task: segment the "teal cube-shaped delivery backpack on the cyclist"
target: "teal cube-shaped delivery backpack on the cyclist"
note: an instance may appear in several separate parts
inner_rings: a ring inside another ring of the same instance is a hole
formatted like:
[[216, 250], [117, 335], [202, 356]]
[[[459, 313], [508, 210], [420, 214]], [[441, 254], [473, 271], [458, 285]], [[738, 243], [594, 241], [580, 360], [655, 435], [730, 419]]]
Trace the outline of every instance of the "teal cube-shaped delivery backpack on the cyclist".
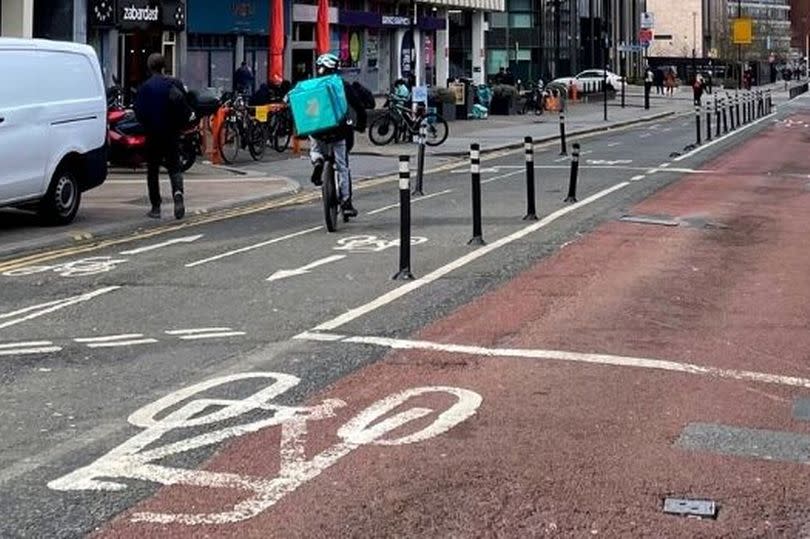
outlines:
[[290, 91], [288, 99], [299, 135], [338, 127], [349, 112], [343, 79], [338, 75], [303, 80]]

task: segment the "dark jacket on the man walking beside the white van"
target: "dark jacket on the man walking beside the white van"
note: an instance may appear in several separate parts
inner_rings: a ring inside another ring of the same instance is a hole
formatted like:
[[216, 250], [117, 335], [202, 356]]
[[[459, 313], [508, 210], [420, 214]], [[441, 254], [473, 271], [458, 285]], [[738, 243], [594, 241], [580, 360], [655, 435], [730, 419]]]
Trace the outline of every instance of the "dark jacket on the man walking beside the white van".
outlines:
[[135, 116], [147, 133], [178, 133], [188, 121], [190, 108], [183, 84], [172, 77], [152, 75], [138, 88]]

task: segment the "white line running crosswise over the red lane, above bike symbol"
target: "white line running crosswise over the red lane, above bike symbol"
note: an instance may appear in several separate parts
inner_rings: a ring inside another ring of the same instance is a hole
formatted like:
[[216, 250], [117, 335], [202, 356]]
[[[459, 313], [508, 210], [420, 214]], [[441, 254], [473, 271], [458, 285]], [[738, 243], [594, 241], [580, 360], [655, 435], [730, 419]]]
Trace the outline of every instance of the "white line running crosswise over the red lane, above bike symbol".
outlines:
[[431, 350], [434, 352], [449, 352], [484, 357], [504, 357], [563, 361], [570, 363], [588, 363], [594, 365], [610, 365], [614, 367], [635, 367], [684, 374], [695, 374], [713, 378], [740, 380], [745, 382], [761, 382], [791, 387], [810, 388], [810, 378], [783, 376], [756, 371], [741, 371], [736, 369], [721, 369], [694, 363], [681, 363], [630, 356], [614, 356], [609, 354], [591, 354], [582, 352], [565, 352], [560, 350], [532, 350], [522, 348], [484, 348], [460, 344], [444, 344], [429, 341], [412, 341], [406, 339], [391, 339], [386, 337], [347, 337], [345, 343], [369, 344], [395, 350]]

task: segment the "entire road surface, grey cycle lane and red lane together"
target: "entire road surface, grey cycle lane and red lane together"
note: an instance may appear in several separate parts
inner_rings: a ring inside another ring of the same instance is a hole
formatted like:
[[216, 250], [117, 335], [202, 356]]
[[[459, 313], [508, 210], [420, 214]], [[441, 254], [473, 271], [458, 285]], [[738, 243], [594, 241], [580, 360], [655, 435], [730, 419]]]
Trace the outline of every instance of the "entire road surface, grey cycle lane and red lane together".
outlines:
[[336, 234], [313, 191], [0, 262], [0, 536], [807, 533], [804, 468], [746, 444], [810, 458], [808, 120], [583, 137], [576, 203], [539, 146], [537, 221], [522, 150], [490, 156], [484, 246], [469, 167], [430, 174], [414, 281], [395, 180]]

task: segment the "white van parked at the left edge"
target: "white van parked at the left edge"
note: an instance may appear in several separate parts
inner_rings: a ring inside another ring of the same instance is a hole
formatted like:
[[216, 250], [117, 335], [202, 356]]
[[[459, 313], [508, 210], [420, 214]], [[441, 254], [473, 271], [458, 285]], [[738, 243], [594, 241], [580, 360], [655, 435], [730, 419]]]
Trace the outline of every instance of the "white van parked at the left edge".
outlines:
[[87, 45], [0, 38], [0, 207], [67, 224], [107, 177], [107, 99]]

